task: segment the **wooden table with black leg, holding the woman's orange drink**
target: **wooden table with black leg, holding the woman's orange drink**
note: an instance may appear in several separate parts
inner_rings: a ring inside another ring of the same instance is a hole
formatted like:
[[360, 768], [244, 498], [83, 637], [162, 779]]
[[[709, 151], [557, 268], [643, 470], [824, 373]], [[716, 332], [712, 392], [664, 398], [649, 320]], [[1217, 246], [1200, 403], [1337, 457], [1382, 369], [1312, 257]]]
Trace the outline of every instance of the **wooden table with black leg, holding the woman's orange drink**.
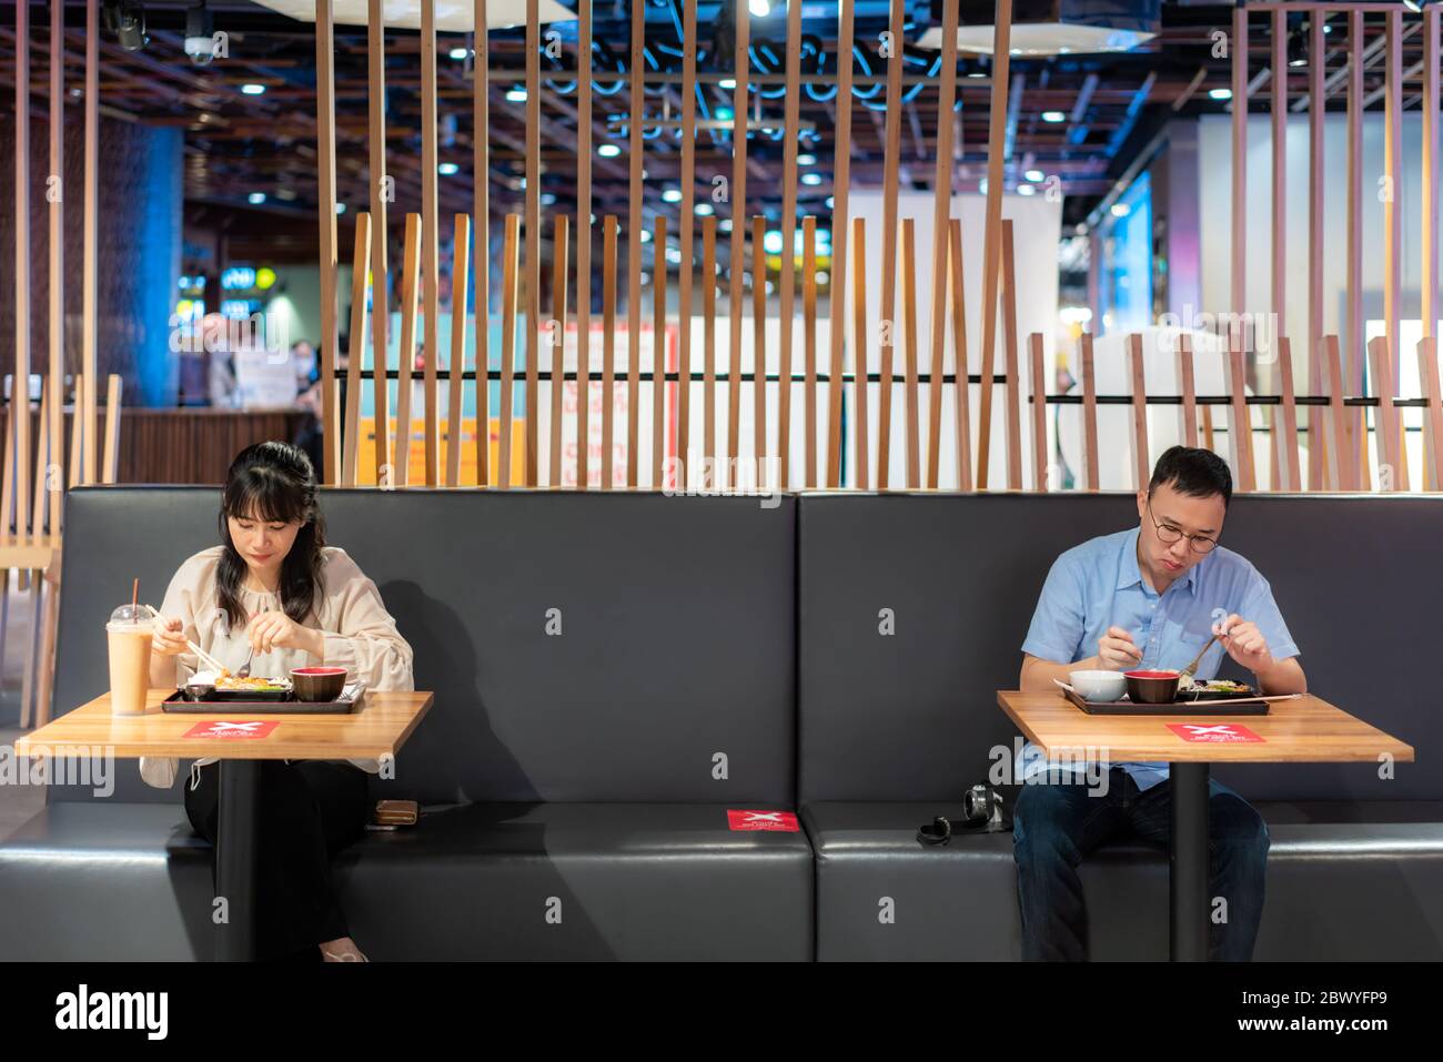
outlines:
[[[436, 700], [431, 693], [369, 691], [361, 708], [345, 716], [215, 711], [163, 713], [173, 690], [152, 690], [144, 716], [111, 716], [110, 694], [68, 711], [14, 743], [17, 756], [92, 756], [117, 759], [176, 756], [221, 760], [215, 844], [215, 890], [227, 898], [228, 919], [218, 926], [216, 957], [251, 958], [255, 944], [255, 799], [260, 762], [267, 759], [381, 759], [395, 756]], [[232, 736], [188, 732], [229, 723]], [[240, 736], [237, 723], [260, 723], [260, 737]], [[264, 724], [274, 723], [267, 730]]]

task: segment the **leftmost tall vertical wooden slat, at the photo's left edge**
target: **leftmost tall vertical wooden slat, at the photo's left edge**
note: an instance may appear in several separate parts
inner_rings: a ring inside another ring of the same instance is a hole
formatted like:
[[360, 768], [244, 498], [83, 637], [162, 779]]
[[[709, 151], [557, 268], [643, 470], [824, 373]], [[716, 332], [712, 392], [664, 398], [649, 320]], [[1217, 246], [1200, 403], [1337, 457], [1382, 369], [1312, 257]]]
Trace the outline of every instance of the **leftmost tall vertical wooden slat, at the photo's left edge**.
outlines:
[[[14, 532], [30, 534], [30, 4], [14, 6]], [[6, 511], [9, 518], [9, 509]], [[4, 587], [0, 587], [3, 590]]]

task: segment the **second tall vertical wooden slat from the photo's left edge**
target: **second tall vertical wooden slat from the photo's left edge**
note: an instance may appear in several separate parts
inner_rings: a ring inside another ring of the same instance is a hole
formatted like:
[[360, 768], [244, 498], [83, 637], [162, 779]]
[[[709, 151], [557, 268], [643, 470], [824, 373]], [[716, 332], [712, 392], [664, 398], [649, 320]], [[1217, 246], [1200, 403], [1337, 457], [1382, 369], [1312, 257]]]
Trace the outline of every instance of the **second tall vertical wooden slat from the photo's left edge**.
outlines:
[[[51, 4], [51, 175], [61, 177], [62, 195], [51, 198], [51, 404], [45, 418], [45, 468], [40, 473], [49, 485], [49, 531], [51, 537], [61, 534], [61, 499], [65, 491], [61, 475], [65, 456], [65, 4]], [[39, 528], [39, 522], [36, 524]], [[52, 584], [46, 609], [56, 605], [56, 590]], [[49, 612], [48, 612], [49, 618]], [[49, 633], [49, 623], [46, 623]], [[40, 659], [48, 661], [43, 675], [53, 671], [53, 649], [42, 648]], [[46, 701], [48, 688], [42, 683], [40, 701]], [[43, 713], [43, 708], [42, 708]]]

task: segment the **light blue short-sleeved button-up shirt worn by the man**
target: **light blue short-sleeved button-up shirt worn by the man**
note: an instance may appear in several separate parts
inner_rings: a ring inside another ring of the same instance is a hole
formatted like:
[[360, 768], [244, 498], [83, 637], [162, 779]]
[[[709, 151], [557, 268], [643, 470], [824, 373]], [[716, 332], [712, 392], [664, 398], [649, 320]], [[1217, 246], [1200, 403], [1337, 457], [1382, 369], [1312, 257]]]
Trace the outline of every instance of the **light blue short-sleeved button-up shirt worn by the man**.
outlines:
[[[1212, 613], [1222, 609], [1257, 623], [1274, 659], [1297, 655], [1273, 590], [1247, 558], [1219, 545], [1159, 594], [1137, 567], [1137, 535], [1139, 528], [1101, 535], [1053, 561], [1023, 652], [1076, 664], [1097, 654], [1098, 639], [1110, 626], [1120, 626], [1143, 651], [1139, 668], [1180, 671], [1212, 638]], [[1196, 678], [1216, 675], [1224, 655], [1222, 645], [1209, 648], [1198, 664]], [[1133, 776], [1139, 789], [1167, 778], [1166, 763], [1117, 766]], [[1027, 746], [1019, 758], [1017, 776], [1046, 768], [1040, 752]]]

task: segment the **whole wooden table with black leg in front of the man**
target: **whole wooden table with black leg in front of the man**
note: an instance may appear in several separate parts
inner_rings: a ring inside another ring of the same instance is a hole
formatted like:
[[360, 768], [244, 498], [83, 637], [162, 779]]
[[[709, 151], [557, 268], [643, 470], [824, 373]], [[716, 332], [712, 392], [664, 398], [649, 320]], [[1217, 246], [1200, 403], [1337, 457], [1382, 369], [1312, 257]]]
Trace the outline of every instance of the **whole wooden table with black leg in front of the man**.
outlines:
[[[1320, 697], [1274, 701], [1266, 716], [1089, 716], [1061, 691], [1000, 690], [997, 703], [1017, 729], [1052, 759], [1111, 763], [1166, 760], [1172, 775], [1172, 958], [1208, 957], [1208, 765], [1413, 762], [1413, 746]], [[1201, 727], [1201, 730], [1169, 729]], [[1255, 737], [1257, 740], [1240, 737]]]

